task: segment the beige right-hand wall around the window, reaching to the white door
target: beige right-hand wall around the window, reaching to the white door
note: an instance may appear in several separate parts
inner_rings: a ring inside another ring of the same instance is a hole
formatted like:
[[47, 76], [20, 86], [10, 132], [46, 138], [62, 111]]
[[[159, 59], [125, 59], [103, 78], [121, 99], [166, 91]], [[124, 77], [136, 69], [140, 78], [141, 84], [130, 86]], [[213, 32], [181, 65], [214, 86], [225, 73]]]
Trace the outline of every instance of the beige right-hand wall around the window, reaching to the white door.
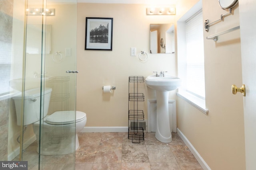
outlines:
[[[218, 20], [226, 12], [219, 7], [218, 1], [203, 0], [204, 20]], [[206, 39], [206, 36], [237, 25], [238, 6], [224, 21], [211, 25], [208, 33], [204, 31], [208, 115], [181, 98], [177, 102], [178, 128], [212, 170], [245, 169], [243, 97], [231, 92], [232, 84], [242, 85], [240, 32], [220, 35], [218, 41]]]

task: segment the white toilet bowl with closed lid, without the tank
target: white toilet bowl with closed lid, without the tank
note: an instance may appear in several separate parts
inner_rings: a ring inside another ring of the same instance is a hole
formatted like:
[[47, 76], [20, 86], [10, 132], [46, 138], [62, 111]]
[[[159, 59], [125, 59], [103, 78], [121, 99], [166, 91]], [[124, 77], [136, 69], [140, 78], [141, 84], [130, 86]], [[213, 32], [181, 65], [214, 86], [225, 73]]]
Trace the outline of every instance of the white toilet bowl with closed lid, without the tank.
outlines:
[[[44, 117], [43, 142], [40, 153], [43, 155], [70, 154], [79, 147], [77, 133], [86, 125], [86, 113], [76, 111], [76, 124], [74, 124], [74, 111], [56, 111]], [[33, 123], [33, 130], [39, 146], [40, 121]], [[76, 133], [74, 133], [76, 131]], [[75, 140], [75, 141], [74, 141]], [[37, 152], [39, 152], [39, 147]]]

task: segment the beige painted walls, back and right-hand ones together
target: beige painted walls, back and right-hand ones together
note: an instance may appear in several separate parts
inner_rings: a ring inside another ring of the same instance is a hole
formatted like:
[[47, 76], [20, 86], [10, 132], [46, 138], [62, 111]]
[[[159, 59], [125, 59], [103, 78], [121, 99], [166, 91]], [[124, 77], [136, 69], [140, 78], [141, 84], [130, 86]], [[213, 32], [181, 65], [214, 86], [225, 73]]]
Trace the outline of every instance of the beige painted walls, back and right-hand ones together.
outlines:
[[[149, 54], [149, 24], [176, 23], [198, 0], [180, 0], [176, 16], [146, 16], [142, 4], [78, 3], [77, 110], [87, 113], [86, 126], [127, 126], [128, 76], [148, 76], [152, 71], [167, 70], [176, 75], [176, 54]], [[203, 0], [204, 20], [218, 20], [227, 11], [217, 1]], [[114, 18], [113, 51], [85, 51], [85, 18]], [[210, 26], [204, 37], [239, 25], [238, 7], [225, 21]], [[222, 35], [217, 42], [204, 39], [206, 107], [205, 115], [174, 93], [177, 98], [178, 128], [212, 170], [245, 169], [243, 97], [231, 93], [231, 85], [242, 84], [239, 31]], [[137, 57], [130, 57], [136, 47]], [[138, 53], [146, 51], [146, 63]], [[102, 86], [115, 85], [112, 94], [103, 94]], [[147, 99], [155, 98], [146, 85], [140, 89]], [[146, 100], [144, 112], [146, 111]]]

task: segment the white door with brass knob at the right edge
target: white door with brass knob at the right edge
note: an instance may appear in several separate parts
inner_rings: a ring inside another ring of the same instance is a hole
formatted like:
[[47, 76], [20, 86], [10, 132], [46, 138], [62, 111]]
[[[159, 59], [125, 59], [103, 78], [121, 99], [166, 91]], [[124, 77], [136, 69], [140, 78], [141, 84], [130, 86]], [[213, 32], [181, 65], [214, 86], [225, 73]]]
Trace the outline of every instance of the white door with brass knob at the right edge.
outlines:
[[[256, 1], [240, 0], [246, 170], [256, 170]], [[239, 85], [240, 86], [240, 85]]]

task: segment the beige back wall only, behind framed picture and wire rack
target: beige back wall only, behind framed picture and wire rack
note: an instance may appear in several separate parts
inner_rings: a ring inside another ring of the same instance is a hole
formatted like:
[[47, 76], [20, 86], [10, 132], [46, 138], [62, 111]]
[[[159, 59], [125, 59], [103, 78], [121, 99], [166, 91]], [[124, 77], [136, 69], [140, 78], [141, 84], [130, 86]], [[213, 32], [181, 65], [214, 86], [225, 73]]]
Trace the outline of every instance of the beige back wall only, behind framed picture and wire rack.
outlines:
[[[176, 76], [175, 54], [150, 54], [150, 23], [174, 23], [175, 16], [147, 16], [147, 5], [142, 4], [90, 4], [78, 3], [77, 36], [77, 110], [87, 115], [86, 126], [128, 126], [128, 77], [146, 76], [153, 71], [165, 70]], [[86, 17], [113, 18], [113, 50], [84, 50]], [[136, 57], [130, 48], [136, 47]], [[148, 54], [148, 61], [138, 60], [140, 51]], [[103, 94], [102, 86], [116, 86], [112, 94]], [[155, 98], [145, 84], [140, 85], [145, 94], [142, 102]], [[175, 93], [170, 98], [176, 98]], [[145, 118], [147, 115], [145, 114]]]

